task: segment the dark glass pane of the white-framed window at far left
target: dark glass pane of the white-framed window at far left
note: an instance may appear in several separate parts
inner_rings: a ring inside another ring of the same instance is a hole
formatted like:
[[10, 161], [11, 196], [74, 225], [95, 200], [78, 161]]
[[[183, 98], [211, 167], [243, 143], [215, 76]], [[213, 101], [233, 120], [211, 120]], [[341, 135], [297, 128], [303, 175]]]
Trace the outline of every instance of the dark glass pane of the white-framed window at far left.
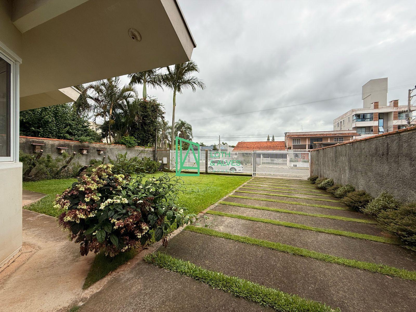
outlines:
[[0, 157], [10, 157], [10, 70], [0, 57]]

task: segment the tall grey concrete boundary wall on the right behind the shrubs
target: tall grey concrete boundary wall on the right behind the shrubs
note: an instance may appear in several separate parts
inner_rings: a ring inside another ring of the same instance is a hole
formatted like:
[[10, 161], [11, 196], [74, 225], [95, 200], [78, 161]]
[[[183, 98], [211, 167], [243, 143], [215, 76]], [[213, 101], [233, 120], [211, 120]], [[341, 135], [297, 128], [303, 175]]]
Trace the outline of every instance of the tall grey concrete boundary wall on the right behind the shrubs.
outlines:
[[312, 150], [311, 175], [416, 201], [416, 126]]

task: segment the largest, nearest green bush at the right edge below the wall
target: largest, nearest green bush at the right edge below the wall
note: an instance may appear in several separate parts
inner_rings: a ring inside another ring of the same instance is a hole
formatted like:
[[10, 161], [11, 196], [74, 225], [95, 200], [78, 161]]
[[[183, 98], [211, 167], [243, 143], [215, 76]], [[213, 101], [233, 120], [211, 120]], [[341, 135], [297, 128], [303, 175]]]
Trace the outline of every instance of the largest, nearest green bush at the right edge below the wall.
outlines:
[[377, 221], [383, 228], [396, 235], [403, 246], [416, 251], [416, 203], [398, 209], [383, 210]]

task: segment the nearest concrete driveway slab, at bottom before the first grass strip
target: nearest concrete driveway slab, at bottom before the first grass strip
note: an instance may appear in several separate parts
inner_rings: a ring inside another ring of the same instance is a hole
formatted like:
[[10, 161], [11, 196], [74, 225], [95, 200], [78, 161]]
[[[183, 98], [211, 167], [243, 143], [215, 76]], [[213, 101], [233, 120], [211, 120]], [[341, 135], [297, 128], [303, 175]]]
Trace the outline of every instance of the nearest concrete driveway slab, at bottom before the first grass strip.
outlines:
[[[179, 234], [180, 235], [180, 234]], [[163, 250], [164, 248], [162, 248]], [[272, 311], [144, 261], [116, 276], [81, 312]]]

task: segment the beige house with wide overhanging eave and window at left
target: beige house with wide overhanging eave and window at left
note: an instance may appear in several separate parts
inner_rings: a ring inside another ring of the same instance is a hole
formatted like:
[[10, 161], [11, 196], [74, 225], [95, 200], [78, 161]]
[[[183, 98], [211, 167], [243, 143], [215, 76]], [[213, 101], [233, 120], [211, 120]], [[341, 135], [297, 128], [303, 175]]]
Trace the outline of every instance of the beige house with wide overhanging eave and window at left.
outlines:
[[186, 62], [196, 45], [176, 0], [0, 0], [0, 30], [1, 267], [22, 246], [19, 111], [73, 102], [78, 84]]

